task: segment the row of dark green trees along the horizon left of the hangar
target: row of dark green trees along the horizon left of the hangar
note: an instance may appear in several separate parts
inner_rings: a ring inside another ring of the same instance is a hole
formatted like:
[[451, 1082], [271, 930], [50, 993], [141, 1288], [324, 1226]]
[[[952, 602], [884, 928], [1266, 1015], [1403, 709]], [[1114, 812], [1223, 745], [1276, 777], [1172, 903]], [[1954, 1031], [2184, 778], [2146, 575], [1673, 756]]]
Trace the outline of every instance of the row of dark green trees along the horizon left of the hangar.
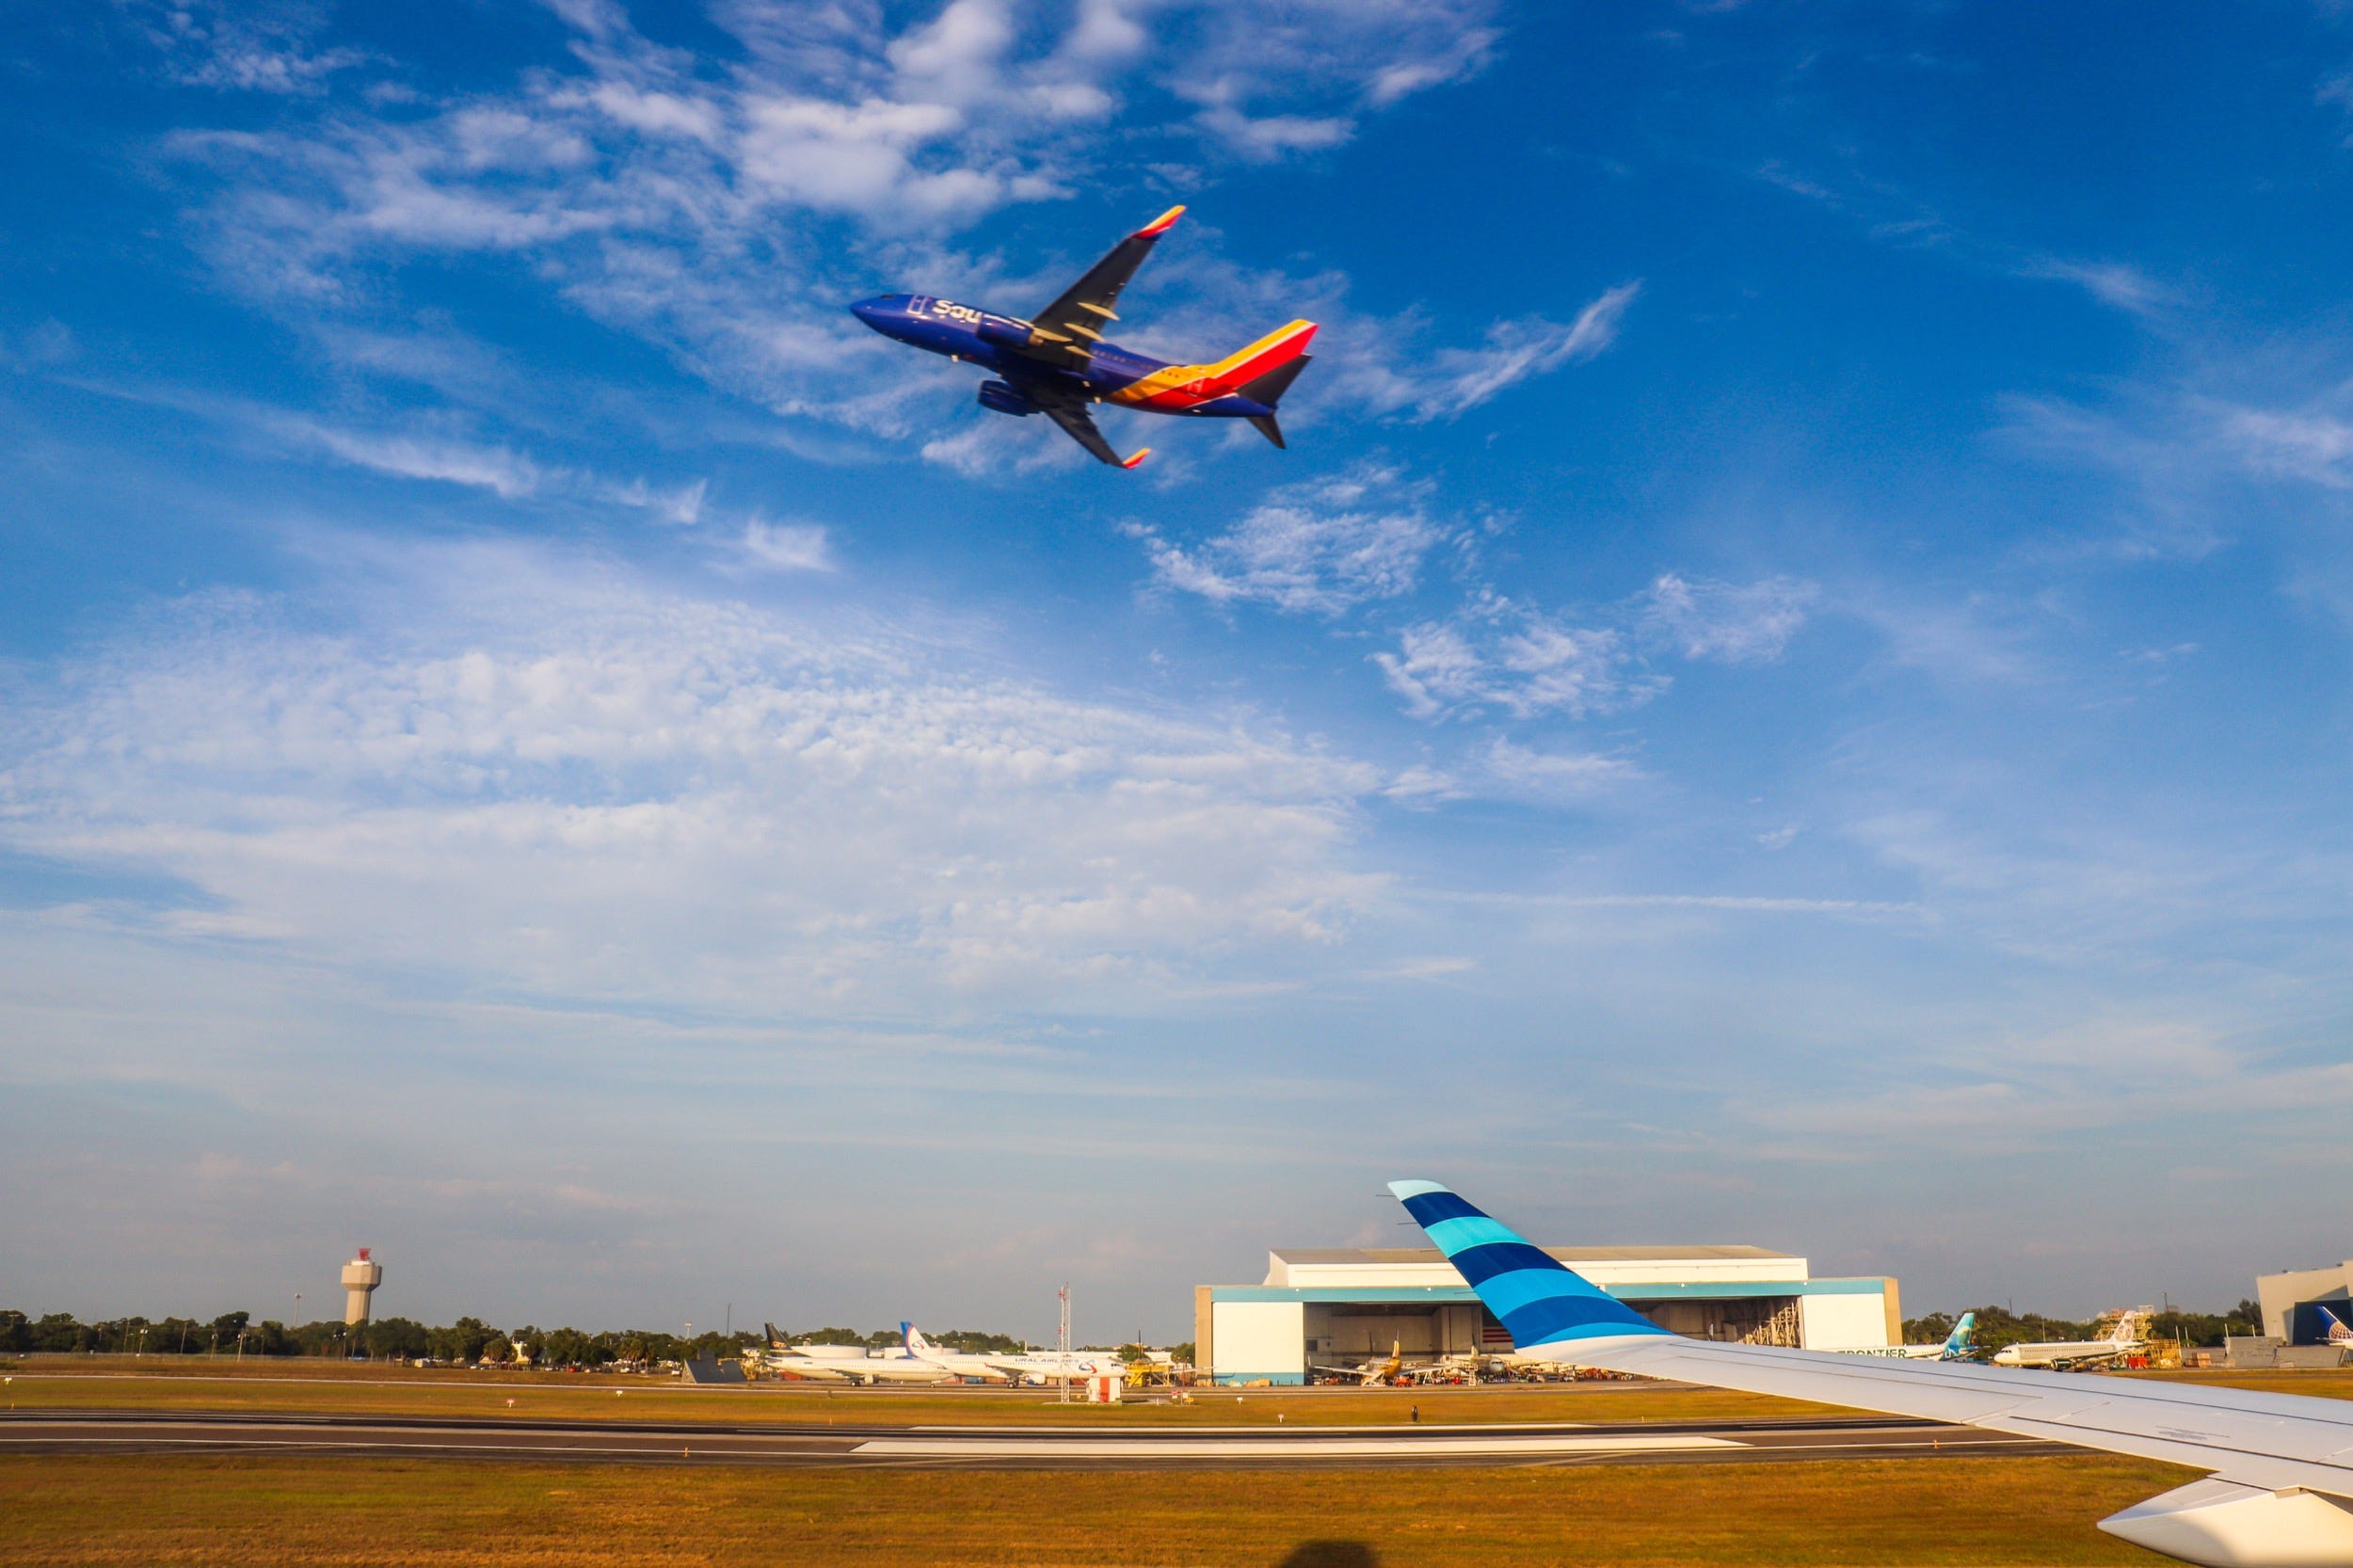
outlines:
[[[958, 1351], [1019, 1351], [1021, 1340], [972, 1328], [925, 1335]], [[431, 1328], [412, 1318], [374, 1318], [344, 1323], [254, 1321], [249, 1311], [226, 1311], [216, 1318], [101, 1318], [82, 1323], [73, 1314], [28, 1316], [0, 1311], [0, 1354], [89, 1354], [89, 1356], [367, 1356], [376, 1361], [447, 1361], [492, 1366], [527, 1361], [529, 1366], [614, 1366], [638, 1361], [704, 1361], [739, 1356], [760, 1344], [762, 1335], [661, 1333], [659, 1328], [492, 1328], [482, 1318], [459, 1318]], [[856, 1333], [852, 1328], [816, 1328], [795, 1337], [805, 1344], [864, 1344], [882, 1349], [899, 1344], [896, 1328]], [[518, 1356], [520, 1351], [520, 1356]]]

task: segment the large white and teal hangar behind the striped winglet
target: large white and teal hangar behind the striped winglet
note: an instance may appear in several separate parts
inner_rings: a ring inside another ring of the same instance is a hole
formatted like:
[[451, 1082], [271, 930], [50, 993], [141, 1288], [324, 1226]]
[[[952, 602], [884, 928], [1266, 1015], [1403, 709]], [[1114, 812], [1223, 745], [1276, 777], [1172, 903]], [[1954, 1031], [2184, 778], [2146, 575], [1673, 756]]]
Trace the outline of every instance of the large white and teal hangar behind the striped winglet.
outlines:
[[[1661, 1328], [1699, 1340], [1882, 1349], [1904, 1342], [1892, 1278], [1812, 1278], [1746, 1245], [1544, 1248]], [[1259, 1285], [1195, 1285], [1193, 1363], [1221, 1384], [1297, 1384], [1311, 1368], [1508, 1351], [1511, 1335], [1438, 1248], [1282, 1248]]]

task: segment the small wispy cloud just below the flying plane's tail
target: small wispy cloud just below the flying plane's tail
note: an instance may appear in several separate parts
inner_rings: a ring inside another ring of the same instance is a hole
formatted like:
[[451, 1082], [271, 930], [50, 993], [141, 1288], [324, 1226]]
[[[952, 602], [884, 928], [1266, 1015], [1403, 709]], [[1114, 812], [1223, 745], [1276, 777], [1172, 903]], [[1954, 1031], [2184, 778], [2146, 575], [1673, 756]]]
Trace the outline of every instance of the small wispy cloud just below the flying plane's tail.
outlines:
[[1186, 549], [1134, 530], [1153, 574], [1214, 603], [1249, 600], [1337, 614], [1412, 591], [1421, 560], [1445, 537], [1428, 518], [1428, 480], [1388, 464], [1282, 485], [1226, 532]]

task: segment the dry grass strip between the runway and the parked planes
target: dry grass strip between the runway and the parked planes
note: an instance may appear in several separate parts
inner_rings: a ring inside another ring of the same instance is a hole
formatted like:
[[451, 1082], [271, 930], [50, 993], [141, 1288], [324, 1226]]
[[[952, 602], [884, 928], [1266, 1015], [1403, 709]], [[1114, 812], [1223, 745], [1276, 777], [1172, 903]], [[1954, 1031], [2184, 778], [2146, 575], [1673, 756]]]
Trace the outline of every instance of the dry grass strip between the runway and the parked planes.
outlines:
[[[315, 1368], [315, 1370], [313, 1370]], [[819, 1389], [791, 1384], [687, 1389], [654, 1377], [565, 1373], [468, 1373], [456, 1368], [355, 1368], [294, 1363], [38, 1361], [14, 1373], [19, 1410], [268, 1410], [311, 1415], [435, 1415], [633, 1422], [840, 1422], [906, 1427], [1122, 1424], [1292, 1427], [1402, 1424], [1414, 1406], [1440, 1422], [1682, 1422], [1835, 1415], [1729, 1389], [1678, 1384], [1520, 1384], [1492, 1389], [1282, 1389], [1212, 1391], [1191, 1406], [1056, 1406], [1052, 1391]], [[506, 1401], [515, 1408], [508, 1410]]]

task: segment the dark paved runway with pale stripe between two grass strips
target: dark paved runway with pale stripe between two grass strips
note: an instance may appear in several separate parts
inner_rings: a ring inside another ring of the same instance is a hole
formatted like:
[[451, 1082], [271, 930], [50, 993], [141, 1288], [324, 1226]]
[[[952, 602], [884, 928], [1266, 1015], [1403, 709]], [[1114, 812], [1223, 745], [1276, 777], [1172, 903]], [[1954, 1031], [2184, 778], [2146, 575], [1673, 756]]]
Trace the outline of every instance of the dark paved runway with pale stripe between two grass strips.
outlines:
[[1351, 1469], [1428, 1464], [1788, 1464], [2071, 1453], [1885, 1417], [1513, 1427], [816, 1427], [198, 1415], [0, 1415], [0, 1453], [346, 1455], [739, 1467]]

